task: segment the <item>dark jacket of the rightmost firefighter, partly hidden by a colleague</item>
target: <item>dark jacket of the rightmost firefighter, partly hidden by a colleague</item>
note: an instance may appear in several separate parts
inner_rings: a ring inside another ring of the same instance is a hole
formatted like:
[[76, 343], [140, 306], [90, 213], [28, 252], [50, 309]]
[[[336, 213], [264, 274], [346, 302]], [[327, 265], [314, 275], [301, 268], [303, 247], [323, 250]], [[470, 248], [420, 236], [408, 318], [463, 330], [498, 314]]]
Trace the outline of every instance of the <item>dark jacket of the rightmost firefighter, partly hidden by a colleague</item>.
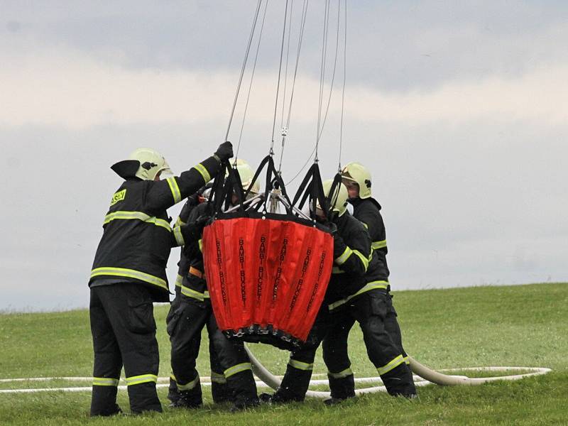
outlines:
[[353, 204], [353, 215], [356, 219], [363, 222], [369, 235], [371, 235], [371, 249], [373, 258], [369, 263], [368, 281], [385, 280], [388, 281], [388, 265], [386, 263], [386, 230], [381, 216], [381, 204], [374, 198], [356, 198], [349, 200]]

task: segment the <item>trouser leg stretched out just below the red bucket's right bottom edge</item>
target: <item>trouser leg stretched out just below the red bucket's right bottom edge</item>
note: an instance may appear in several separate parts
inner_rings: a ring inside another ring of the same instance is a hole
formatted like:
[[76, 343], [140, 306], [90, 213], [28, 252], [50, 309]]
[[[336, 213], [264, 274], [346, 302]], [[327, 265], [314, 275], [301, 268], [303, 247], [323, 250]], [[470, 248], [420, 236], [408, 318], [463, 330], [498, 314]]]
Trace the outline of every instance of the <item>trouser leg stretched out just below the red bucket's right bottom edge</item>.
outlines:
[[277, 402], [302, 401], [307, 388], [310, 386], [314, 359], [317, 348], [327, 334], [329, 328], [329, 313], [327, 306], [318, 312], [314, 325], [310, 330], [307, 341], [290, 354], [286, 373], [273, 398]]

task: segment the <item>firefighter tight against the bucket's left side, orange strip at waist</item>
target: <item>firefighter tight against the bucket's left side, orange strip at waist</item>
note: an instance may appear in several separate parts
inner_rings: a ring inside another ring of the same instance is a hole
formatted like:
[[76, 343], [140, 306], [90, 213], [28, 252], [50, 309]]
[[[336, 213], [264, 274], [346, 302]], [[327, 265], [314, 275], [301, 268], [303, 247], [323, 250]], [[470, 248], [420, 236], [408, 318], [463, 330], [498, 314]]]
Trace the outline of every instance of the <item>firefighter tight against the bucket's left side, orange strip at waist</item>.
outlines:
[[[236, 168], [243, 186], [248, 186], [253, 177], [252, 169], [246, 163], [241, 163]], [[251, 194], [258, 193], [258, 189], [258, 184], [255, 183]], [[182, 274], [180, 301], [168, 323], [172, 345], [171, 366], [178, 388], [178, 398], [173, 401], [172, 406], [196, 408], [202, 405], [200, 376], [195, 364], [200, 349], [201, 332], [206, 326], [209, 334], [209, 353], [217, 354], [216, 361], [221, 367], [220, 371], [214, 371], [212, 366], [212, 381], [226, 383], [234, 403], [232, 410], [243, 410], [258, 405], [256, 383], [244, 344], [229, 341], [217, 327], [213, 315], [204, 276], [201, 246], [201, 232], [210, 216], [209, 207], [206, 203], [195, 207], [190, 213], [189, 223], [181, 229], [188, 264], [187, 271]], [[187, 231], [191, 227], [195, 230], [193, 235], [194, 231]], [[215, 399], [215, 395], [213, 396]]]

